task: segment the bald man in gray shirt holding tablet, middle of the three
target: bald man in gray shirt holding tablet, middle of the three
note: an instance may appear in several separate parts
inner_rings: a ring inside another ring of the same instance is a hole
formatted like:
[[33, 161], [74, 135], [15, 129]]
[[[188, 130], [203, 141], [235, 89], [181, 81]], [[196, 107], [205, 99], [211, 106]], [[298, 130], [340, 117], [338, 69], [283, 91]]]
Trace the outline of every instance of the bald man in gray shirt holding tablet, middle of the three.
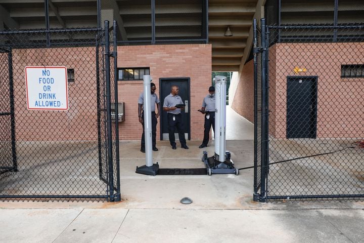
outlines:
[[188, 149], [189, 147], [186, 144], [185, 138], [185, 129], [183, 124], [183, 119], [181, 115], [181, 109], [185, 109], [185, 107], [177, 108], [176, 105], [183, 104], [182, 98], [178, 96], [178, 86], [173, 85], [171, 87], [171, 93], [164, 98], [163, 102], [163, 110], [167, 111], [167, 121], [168, 121], [168, 134], [169, 134], [169, 143], [172, 146], [172, 149], [176, 149], [174, 130], [178, 131], [178, 138], [181, 144], [181, 147], [184, 149]]

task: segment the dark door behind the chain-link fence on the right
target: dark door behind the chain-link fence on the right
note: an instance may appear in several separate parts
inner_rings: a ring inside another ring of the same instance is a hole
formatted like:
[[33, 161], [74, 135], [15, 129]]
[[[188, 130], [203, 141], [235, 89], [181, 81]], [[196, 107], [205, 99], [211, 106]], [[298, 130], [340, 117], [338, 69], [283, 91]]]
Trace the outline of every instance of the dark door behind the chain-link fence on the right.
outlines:
[[287, 77], [287, 138], [316, 138], [317, 76]]

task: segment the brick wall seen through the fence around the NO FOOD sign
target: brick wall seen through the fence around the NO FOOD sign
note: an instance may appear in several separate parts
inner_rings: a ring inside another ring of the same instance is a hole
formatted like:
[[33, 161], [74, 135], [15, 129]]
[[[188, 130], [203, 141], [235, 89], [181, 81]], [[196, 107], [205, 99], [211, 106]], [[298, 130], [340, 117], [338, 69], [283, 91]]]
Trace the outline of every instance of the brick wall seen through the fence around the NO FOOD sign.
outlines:
[[[17, 141], [97, 141], [95, 47], [14, 49], [12, 55]], [[43, 65], [74, 68], [67, 111], [27, 110], [24, 68]]]

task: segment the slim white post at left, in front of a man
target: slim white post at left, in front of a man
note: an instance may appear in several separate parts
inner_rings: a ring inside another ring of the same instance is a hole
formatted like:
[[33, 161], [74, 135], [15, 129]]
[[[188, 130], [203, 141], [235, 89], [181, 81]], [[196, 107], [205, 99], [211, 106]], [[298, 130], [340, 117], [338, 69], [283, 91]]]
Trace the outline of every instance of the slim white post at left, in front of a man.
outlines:
[[144, 137], [146, 151], [146, 166], [153, 166], [152, 157], [152, 111], [151, 111], [151, 77], [150, 75], [143, 76], [144, 84]]

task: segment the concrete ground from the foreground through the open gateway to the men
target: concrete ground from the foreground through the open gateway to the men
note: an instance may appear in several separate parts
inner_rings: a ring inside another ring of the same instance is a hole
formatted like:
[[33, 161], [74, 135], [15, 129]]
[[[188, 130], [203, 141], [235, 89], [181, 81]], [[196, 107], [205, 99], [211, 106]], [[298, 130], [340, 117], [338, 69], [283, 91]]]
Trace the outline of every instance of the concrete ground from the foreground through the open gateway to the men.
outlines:
[[[253, 164], [249, 136], [226, 141], [237, 168]], [[202, 152], [212, 155], [214, 143], [199, 149], [200, 143], [172, 150], [168, 141], [157, 142], [154, 163], [203, 168]], [[139, 146], [120, 143], [121, 202], [2, 201], [0, 242], [364, 242], [364, 201], [256, 203], [253, 169], [238, 176], [135, 174], [145, 164]], [[179, 202], [186, 196], [192, 204]]]

